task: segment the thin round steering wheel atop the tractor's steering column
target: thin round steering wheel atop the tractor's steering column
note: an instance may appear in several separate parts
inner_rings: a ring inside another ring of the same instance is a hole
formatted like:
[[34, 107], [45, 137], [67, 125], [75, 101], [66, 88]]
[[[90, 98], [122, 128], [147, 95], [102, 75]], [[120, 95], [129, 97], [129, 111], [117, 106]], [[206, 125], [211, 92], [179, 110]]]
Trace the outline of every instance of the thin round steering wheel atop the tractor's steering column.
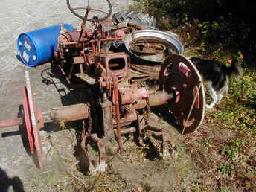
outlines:
[[[80, 10], [80, 9], [84, 9], [84, 10], [87, 10], [86, 7], [77, 7], [77, 8], [72, 8], [71, 5], [70, 5], [70, 0], [67, 0], [67, 5], [68, 5], [68, 9], [71, 11], [71, 13], [73, 13], [75, 16], [77, 16], [78, 18], [80, 19], [83, 19], [83, 20], [86, 20], [86, 21], [89, 21], [89, 22], [101, 22], [105, 19], [108, 19], [109, 16], [111, 15], [112, 13], [112, 4], [110, 3], [109, 0], [106, 0], [109, 4], [109, 13], [106, 13], [106, 12], [103, 12], [102, 10], [97, 10], [97, 9], [92, 9], [90, 8], [89, 10], [94, 10], [94, 11], [98, 11], [100, 13], [105, 13], [106, 16], [104, 17], [101, 17], [101, 18], [97, 18], [97, 19], [89, 19], [89, 18], [86, 18], [85, 16], [81, 16], [80, 14], [78, 14], [77, 12], [75, 12], [74, 10]], [[88, 6], [89, 7], [89, 6]]]

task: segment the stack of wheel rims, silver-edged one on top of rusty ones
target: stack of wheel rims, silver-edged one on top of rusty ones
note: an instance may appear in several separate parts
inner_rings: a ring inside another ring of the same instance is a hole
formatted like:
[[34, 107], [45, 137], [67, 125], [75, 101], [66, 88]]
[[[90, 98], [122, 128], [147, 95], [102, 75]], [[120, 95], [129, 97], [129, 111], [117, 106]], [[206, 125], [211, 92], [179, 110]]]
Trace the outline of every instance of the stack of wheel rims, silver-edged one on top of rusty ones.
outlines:
[[168, 56], [184, 52], [179, 39], [168, 31], [134, 31], [126, 36], [124, 44], [132, 55], [131, 67], [156, 79]]

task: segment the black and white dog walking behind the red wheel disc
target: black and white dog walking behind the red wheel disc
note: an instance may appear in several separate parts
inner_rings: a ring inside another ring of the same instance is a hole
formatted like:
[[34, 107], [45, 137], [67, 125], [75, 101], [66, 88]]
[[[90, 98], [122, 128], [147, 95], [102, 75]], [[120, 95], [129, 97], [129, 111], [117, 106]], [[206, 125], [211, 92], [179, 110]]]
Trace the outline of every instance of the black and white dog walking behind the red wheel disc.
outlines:
[[219, 103], [224, 93], [228, 93], [228, 84], [230, 77], [240, 77], [243, 74], [238, 60], [231, 62], [231, 67], [226, 67], [217, 60], [200, 59], [191, 57], [191, 62], [196, 65], [202, 79], [208, 83], [209, 94], [213, 99], [206, 108], [213, 108]]

